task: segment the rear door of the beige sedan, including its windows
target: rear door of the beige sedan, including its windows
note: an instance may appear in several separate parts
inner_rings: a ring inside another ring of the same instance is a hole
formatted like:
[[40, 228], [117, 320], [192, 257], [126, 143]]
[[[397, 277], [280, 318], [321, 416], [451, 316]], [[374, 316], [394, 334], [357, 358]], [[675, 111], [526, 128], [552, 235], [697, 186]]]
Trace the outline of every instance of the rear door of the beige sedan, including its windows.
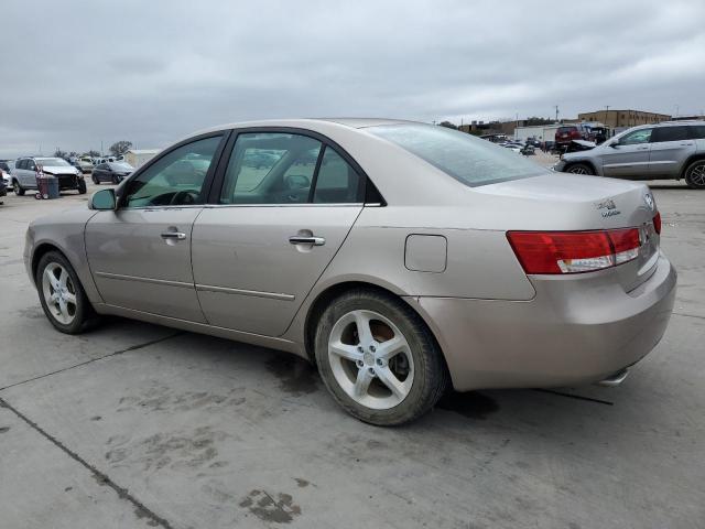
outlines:
[[229, 151], [194, 224], [198, 299], [212, 325], [279, 336], [361, 212], [365, 177], [306, 131], [241, 131]]

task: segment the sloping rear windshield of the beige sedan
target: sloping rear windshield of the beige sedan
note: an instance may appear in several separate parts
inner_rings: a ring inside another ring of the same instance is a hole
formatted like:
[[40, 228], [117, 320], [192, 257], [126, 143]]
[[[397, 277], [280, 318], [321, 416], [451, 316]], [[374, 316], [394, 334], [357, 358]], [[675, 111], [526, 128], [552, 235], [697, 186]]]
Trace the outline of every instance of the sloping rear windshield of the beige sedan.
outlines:
[[509, 149], [432, 125], [384, 125], [366, 129], [475, 187], [545, 173]]

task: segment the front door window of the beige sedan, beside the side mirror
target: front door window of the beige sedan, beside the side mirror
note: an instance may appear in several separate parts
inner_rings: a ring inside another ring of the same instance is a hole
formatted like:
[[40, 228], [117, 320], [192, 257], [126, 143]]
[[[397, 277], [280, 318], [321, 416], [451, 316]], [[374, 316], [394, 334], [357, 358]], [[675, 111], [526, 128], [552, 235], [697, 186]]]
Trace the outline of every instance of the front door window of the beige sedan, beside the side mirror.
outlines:
[[129, 182], [126, 207], [202, 203], [206, 174], [221, 139], [221, 136], [214, 136], [197, 140], [156, 160]]

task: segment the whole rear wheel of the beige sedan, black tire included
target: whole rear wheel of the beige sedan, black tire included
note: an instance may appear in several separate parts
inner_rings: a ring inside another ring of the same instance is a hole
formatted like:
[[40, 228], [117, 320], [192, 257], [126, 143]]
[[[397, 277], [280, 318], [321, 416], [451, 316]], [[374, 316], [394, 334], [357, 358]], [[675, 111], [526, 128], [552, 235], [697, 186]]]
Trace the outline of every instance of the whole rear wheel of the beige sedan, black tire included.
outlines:
[[[362, 339], [356, 322], [369, 331], [362, 332]], [[397, 344], [393, 349], [383, 346], [388, 339]], [[318, 320], [314, 347], [335, 401], [370, 424], [413, 421], [448, 386], [447, 368], [431, 331], [409, 305], [386, 292], [356, 289], [330, 301]], [[389, 350], [395, 352], [386, 356]]]

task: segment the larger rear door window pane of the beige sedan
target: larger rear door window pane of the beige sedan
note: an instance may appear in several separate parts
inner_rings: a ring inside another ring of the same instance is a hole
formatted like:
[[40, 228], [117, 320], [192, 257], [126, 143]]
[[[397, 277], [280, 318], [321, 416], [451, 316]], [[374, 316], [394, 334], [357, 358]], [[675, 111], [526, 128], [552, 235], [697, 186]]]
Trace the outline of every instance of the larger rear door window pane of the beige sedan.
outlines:
[[220, 204], [305, 204], [321, 149], [318, 140], [302, 134], [239, 134]]

